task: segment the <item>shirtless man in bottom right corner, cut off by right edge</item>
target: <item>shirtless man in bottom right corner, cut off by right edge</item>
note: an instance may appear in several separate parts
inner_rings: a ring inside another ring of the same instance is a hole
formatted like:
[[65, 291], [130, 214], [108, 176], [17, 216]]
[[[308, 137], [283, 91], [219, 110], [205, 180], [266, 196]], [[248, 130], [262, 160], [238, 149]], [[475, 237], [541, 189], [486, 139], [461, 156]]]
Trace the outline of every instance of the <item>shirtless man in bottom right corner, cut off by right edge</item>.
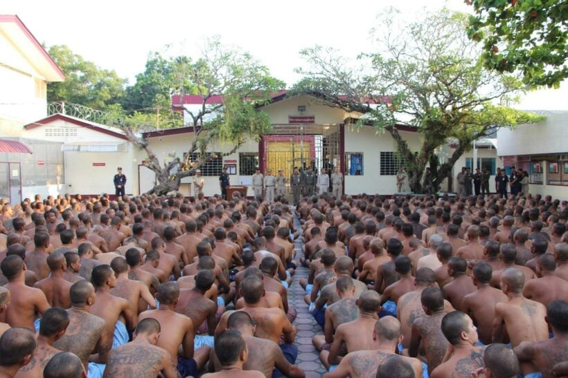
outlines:
[[553, 368], [568, 360], [568, 303], [552, 301], [547, 308], [547, 322], [552, 328], [552, 339], [522, 343], [514, 351], [520, 361], [533, 363], [544, 378], [559, 377], [553, 374]]

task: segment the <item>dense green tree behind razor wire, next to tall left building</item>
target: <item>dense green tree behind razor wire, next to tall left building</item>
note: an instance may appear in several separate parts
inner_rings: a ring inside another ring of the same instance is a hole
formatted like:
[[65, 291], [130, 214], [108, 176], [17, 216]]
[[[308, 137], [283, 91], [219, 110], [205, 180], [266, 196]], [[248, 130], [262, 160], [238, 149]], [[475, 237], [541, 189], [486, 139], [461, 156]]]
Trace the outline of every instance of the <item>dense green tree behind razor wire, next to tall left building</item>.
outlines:
[[48, 102], [65, 101], [104, 110], [123, 97], [125, 80], [114, 70], [99, 68], [65, 45], [51, 46], [48, 52], [65, 74], [63, 82], [48, 83]]

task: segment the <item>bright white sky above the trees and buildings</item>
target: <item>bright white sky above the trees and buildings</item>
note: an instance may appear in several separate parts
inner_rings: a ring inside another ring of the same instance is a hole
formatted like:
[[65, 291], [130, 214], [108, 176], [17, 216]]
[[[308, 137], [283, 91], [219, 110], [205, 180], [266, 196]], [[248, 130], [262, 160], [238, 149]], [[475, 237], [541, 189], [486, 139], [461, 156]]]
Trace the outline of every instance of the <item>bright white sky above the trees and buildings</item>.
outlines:
[[[65, 44], [101, 68], [134, 82], [151, 51], [199, 55], [206, 37], [248, 51], [288, 86], [299, 79], [299, 50], [331, 46], [356, 57], [371, 46], [369, 30], [396, 6], [409, 19], [423, 9], [471, 12], [463, 0], [150, 1], [1, 0], [0, 14], [18, 15], [39, 42]], [[171, 46], [168, 50], [166, 46]], [[568, 110], [568, 85], [522, 97], [523, 109]]]

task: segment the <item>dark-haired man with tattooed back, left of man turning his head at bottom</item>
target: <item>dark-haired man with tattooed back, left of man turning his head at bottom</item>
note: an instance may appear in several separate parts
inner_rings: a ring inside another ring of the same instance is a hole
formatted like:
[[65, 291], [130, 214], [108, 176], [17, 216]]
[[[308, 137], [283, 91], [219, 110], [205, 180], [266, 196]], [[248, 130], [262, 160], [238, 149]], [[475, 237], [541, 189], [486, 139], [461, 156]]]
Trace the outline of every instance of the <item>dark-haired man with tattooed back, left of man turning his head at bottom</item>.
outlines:
[[[412, 323], [410, 346], [408, 350], [402, 351], [402, 355], [417, 357], [418, 347], [420, 342], [423, 342], [428, 373], [432, 374], [432, 371], [442, 363], [448, 346], [441, 329], [442, 319], [447, 312], [444, 310], [444, 296], [437, 287], [427, 287], [423, 290], [420, 302], [426, 315]], [[424, 363], [423, 368], [425, 368]]]

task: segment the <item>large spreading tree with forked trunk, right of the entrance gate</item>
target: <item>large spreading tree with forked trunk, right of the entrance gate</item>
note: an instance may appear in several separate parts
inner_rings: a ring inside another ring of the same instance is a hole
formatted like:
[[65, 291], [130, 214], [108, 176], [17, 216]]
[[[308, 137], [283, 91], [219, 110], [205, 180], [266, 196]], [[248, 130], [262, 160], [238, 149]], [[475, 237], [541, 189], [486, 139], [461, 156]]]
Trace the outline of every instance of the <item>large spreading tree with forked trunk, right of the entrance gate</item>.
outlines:
[[[540, 120], [499, 104], [521, 84], [483, 68], [476, 44], [465, 34], [465, 15], [441, 10], [420, 22], [397, 23], [398, 12], [391, 9], [382, 18], [373, 31], [379, 51], [362, 54], [358, 66], [329, 48], [302, 50], [308, 67], [298, 70], [305, 77], [294, 93], [360, 113], [359, 124], [389, 133], [406, 161], [414, 193], [422, 191], [427, 164], [437, 190], [459, 157], [490, 128]], [[409, 147], [397, 124], [415, 126], [422, 134], [418, 150]], [[436, 149], [448, 141], [457, 148], [441, 164]]]

